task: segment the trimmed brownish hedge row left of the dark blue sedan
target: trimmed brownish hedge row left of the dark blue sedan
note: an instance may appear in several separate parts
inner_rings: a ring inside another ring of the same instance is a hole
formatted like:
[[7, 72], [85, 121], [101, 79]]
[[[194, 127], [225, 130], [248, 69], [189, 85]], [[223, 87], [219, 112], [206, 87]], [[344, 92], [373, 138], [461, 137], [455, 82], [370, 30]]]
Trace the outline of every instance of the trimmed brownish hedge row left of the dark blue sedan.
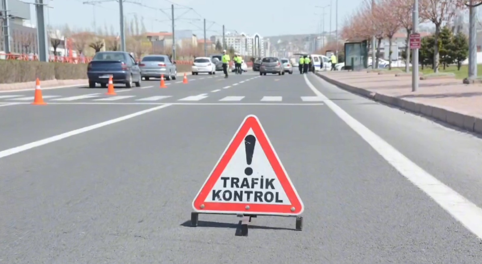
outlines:
[[[190, 65], [177, 65], [177, 72], [190, 72]], [[87, 79], [86, 64], [0, 60], [0, 83], [51, 79]]]

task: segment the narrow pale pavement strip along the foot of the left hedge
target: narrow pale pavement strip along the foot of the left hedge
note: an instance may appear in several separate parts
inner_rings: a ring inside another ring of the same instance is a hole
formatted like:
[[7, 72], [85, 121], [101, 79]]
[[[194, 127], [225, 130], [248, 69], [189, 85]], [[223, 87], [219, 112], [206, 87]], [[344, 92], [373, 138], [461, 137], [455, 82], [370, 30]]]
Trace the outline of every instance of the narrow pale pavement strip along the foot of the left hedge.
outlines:
[[[178, 72], [176, 76], [181, 77], [187, 72]], [[74, 87], [80, 85], [87, 85], [89, 83], [88, 79], [72, 79], [72, 80], [42, 80], [40, 81], [40, 86], [43, 88], [60, 88], [60, 87]], [[15, 82], [15, 83], [0, 83], [0, 91], [23, 91], [23, 90], [34, 90], [35, 81], [27, 82]]]

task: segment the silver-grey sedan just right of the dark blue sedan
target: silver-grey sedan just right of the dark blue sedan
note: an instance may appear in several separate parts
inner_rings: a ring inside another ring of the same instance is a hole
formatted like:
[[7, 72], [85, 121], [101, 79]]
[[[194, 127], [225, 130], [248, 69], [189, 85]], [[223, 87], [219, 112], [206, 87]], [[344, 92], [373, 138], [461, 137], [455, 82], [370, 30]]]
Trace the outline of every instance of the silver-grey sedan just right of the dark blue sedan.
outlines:
[[167, 55], [147, 55], [142, 58], [139, 64], [142, 78], [161, 78], [164, 75], [166, 80], [175, 80], [177, 67]]

